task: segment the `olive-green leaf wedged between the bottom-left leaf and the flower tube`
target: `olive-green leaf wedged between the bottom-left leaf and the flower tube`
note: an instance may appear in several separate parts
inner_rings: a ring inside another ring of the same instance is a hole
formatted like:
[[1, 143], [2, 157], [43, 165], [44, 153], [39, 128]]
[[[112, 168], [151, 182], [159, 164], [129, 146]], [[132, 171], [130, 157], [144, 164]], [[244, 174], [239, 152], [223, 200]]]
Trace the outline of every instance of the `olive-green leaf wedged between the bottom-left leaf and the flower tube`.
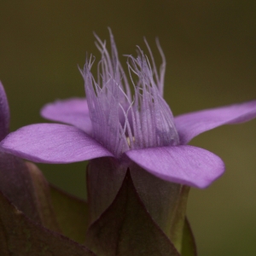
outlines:
[[52, 185], [50, 195], [61, 233], [73, 241], [84, 243], [89, 224], [87, 203]]

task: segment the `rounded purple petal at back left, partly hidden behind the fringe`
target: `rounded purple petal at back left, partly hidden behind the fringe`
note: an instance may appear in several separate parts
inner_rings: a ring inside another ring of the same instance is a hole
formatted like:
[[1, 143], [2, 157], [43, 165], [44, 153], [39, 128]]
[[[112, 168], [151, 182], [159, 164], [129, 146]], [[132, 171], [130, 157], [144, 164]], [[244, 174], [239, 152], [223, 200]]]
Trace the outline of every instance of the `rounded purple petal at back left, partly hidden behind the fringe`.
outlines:
[[89, 109], [85, 98], [71, 98], [46, 104], [41, 110], [45, 119], [74, 125], [91, 133]]

